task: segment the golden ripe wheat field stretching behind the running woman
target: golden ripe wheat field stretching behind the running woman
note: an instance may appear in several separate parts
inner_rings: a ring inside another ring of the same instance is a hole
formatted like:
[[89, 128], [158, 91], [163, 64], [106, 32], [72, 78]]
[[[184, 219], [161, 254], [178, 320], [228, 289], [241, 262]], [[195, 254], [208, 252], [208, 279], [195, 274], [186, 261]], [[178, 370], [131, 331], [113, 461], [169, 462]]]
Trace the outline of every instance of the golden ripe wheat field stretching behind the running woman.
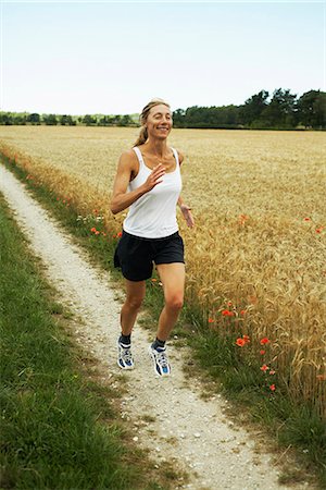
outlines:
[[[122, 150], [137, 128], [2, 126], [0, 151], [67, 197], [80, 215], [109, 211]], [[185, 155], [187, 301], [208, 329], [236, 324], [297, 400], [326, 417], [326, 135], [318, 132], [173, 130]], [[226, 315], [229, 311], [229, 317]], [[240, 348], [240, 347], [239, 347]]]

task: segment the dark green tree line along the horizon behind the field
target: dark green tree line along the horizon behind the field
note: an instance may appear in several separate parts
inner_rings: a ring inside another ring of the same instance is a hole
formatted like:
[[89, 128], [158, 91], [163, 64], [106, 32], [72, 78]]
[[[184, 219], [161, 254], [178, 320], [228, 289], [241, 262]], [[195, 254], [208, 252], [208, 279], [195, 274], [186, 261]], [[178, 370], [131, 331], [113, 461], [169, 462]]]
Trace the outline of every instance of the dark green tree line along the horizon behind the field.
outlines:
[[[175, 127], [294, 130], [326, 128], [326, 93], [309, 90], [301, 97], [277, 88], [261, 90], [241, 106], [189, 107], [173, 112]], [[0, 112], [0, 124], [137, 126], [138, 114], [79, 115]]]

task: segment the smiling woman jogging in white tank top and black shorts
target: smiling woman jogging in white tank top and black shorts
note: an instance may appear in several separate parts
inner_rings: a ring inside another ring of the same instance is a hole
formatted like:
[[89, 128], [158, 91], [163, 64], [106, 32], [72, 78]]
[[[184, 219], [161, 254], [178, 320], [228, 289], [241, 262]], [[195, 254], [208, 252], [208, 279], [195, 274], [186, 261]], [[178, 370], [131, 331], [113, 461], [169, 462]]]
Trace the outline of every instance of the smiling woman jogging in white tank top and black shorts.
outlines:
[[184, 243], [178, 233], [176, 206], [189, 228], [193, 226], [193, 218], [180, 198], [179, 167], [184, 156], [167, 146], [173, 124], [168, 103], [162, 99], [151, 100], [143, 108], [140, 122], [134, 148], [120, 158], [111, 201], [114, 215], [129, 208], [114, 254], [114, 266], [122, 269], [126, 280], [117, 364], [122, 369], [134, 368], [131, 331], [154, 262], [163, 283], [165, 304], [149, 353], [156, 375], [168, 376], [165, 341], [183, 307], [185, 289]]

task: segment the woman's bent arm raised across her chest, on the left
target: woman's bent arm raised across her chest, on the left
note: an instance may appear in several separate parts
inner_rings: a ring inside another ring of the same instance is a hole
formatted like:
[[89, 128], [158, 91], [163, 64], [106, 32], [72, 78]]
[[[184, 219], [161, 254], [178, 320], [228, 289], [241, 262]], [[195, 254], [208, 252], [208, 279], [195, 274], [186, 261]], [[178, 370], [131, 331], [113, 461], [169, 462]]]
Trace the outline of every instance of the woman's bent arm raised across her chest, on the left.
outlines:
[[124, 151], [120, 157], [117, 171], [113, 184], [113, 193], [111, 199], [111, 211], [113, 215], [127, 209], [143, 194], [151, 191], [155, 185], [162, 182], [161, 177], [165, 173], [165, 168], [160, 163], [153, 169], [147, 181], [135, 191], [127, 193], [128, 184], [131, 179], [133, 171], [136, 170], [135, 158], [137, 158], [133, 150]]

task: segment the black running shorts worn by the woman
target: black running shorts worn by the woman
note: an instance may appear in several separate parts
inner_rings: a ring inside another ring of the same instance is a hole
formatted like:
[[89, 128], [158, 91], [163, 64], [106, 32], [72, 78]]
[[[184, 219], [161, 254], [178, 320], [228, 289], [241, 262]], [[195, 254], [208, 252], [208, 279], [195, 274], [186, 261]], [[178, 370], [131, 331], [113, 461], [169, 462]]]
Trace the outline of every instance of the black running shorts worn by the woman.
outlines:
[[129, 281], [145, 281], [152, 275], [153, 262], [185, 262], [184, 241], [179, 233], [164, 238], [142, 238], [123, 231], [115, 248], [114, 267]]

